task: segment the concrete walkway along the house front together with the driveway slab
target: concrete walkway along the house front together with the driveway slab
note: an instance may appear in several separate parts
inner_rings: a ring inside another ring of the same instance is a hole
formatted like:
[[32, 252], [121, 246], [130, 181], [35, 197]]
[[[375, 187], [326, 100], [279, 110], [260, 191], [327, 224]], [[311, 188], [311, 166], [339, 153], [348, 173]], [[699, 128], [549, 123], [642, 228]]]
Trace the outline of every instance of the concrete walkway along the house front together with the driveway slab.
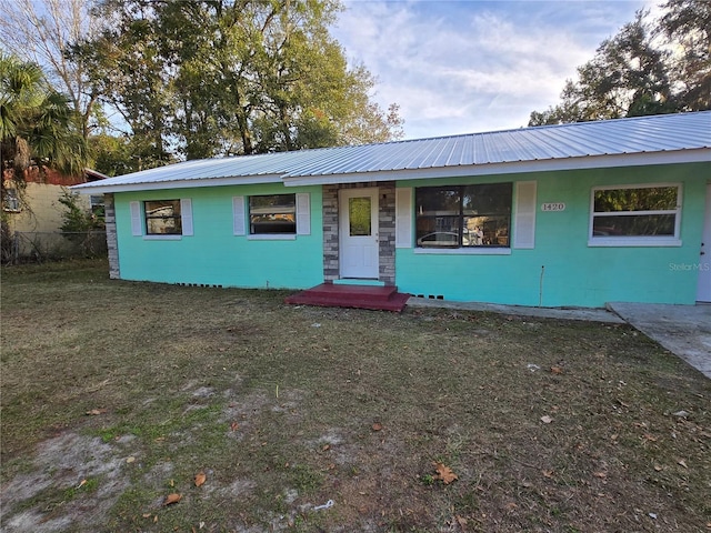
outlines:
[[411, 308], [488, 311], [543, 319], [629, 323], [711, 378], [711, 304], [663, 305], [613, 302], [608, 309], [524, 308], [477, 302], [448, 302], [410, 296]]

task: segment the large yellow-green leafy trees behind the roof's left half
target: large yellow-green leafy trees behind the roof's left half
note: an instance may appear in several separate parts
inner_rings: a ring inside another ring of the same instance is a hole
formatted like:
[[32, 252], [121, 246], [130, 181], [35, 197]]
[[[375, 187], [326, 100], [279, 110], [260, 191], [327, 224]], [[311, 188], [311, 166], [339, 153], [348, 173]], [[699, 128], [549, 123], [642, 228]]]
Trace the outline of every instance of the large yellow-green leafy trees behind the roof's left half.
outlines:
[[142, 140], [139, 167], [401, 135], [328, 32], [336, 0], [101, 0], [78, 43], [102, 98]]

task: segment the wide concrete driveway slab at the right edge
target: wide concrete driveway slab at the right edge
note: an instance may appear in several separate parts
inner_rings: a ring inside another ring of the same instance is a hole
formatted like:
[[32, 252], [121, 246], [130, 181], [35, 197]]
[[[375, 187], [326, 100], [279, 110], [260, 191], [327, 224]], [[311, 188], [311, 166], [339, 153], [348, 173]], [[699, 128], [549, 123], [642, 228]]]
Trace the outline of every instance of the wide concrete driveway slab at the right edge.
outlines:
[[608, 309], [711, 378], [711, 304], [612, 302]]

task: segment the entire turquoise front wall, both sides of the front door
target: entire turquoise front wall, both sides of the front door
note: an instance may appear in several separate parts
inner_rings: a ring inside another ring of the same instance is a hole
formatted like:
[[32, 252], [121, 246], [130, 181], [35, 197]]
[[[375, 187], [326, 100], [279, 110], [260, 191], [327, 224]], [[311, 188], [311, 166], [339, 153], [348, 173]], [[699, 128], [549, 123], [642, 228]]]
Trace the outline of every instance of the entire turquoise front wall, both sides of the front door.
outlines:
[[[537, 172], [400, 181], [398, 188], [537, 182], [535, 248], [508, 255], [395, 252], [401, 292], [450, 301], [603, 306], [610, 301], [693, 304], [709, 163]], [[680, 183], [680, 247], [589, 247], [593, 187]], [[234, 235], [232, 197], [310, 193], [311, 233], [293, 240]], [[515, 187], [514, 187], [515, 193]], [[131, 201], [190, 198], [193, 235], [154, 240], [131, 234]], [[306, 289], [323, 282], [323, 197], [320, 185], [203, 187], [114, 194], [120, 276], [124, 280], [239, 288]], [[544, 202], [565, 210], [542, 212]], [[515, 204], [515, 198], [514, 198]], [[414, 228], [414, 209], [412, 212]], [[515, 227], [513, 228], [515, 233]], [[685, 265], [685, 266], [684, 266]]]

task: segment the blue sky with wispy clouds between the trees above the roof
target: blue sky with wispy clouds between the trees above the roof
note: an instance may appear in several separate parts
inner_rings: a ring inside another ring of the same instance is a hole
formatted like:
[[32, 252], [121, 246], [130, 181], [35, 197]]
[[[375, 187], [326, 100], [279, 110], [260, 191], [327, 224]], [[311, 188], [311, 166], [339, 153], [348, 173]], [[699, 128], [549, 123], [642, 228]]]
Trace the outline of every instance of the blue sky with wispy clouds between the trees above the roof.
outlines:
[[525, 127], [649, 0], [343, 0], [331, 34], [404, 138]]

